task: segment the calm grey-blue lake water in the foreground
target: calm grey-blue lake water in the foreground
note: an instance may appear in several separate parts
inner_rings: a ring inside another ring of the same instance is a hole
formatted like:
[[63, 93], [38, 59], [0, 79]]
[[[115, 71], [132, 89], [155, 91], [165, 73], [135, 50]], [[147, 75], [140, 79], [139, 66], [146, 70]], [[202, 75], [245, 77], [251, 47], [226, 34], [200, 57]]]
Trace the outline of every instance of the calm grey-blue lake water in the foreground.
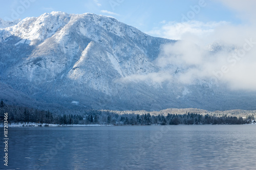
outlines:
[[8, 169], [256, 169], [255, 143], [254, 125], [9, 128]]

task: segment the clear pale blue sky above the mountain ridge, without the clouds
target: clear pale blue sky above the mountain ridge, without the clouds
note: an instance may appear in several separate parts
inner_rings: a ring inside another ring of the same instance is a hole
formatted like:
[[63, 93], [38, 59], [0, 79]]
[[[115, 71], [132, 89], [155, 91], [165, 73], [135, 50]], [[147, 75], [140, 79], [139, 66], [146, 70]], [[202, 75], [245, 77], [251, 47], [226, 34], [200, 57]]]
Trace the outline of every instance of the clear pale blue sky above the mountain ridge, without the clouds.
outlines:
[[[158, 35], [154, 30], [160, 30], [167, 23], [187, 20], [204, 23], [227, 21], [239, 24], [243, 22], [237, 17], [236, 11], [214, 0], [1, 0], [0, 2], [0, 18], [3, 19], [15, 19], [16, 17], [23, 19], [51, 11], [75, 14], [89, 12], [113, 16], [142, 32], [161, 37], [166, 35]], [[193, 7], [200, 7], [200, 9], [197, 8], [194, 12]], [[15, 15], [15, 12], [18, 15]], [[191, 16], [184, 19], [184, 16], [189, 16], [189, 14]]]

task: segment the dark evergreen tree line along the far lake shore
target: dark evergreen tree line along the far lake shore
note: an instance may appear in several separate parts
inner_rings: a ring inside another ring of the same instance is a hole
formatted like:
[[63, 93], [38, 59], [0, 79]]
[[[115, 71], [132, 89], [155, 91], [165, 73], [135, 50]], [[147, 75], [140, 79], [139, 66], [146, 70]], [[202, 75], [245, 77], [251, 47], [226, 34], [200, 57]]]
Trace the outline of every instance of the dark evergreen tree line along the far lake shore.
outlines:
[[72, 114], [57, 114], [49, 110], [37, 110], [28, 107], [18, 107], [0, 103], [0, 119], [4, 120], [4, 113], [8, 113], [10, 124], [59, 124], [59, 125], [241, 125], [250, 124], [254, 115], [241, 116], [210, 115], [198, 113], [151, 115], [145, 114], [117, 114], [114, 111], [81, 110]]

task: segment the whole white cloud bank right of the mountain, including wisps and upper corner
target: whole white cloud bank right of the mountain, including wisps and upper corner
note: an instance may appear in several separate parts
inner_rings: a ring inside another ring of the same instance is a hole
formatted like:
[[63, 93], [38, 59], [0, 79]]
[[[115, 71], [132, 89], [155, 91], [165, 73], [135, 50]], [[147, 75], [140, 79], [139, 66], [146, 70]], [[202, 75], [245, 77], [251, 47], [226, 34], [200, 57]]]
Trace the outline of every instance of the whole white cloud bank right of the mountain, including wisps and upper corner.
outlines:
[[236, 11], [243, 25], [232, 25], [226, 21], [164, 21], [162, 28], [148, 33], [181, 41], [162, 46], [155, 61], [161, 72], [145, 76], [132, 75], [126, 80], [170, 81], [173, 79], [170, 68], [178, 67], [182, 71], [175, 78], [180, 83], [191, 84], [203, 79], [225, 84], [231, 90], [255, 91], [256, 1], [216, 1]]

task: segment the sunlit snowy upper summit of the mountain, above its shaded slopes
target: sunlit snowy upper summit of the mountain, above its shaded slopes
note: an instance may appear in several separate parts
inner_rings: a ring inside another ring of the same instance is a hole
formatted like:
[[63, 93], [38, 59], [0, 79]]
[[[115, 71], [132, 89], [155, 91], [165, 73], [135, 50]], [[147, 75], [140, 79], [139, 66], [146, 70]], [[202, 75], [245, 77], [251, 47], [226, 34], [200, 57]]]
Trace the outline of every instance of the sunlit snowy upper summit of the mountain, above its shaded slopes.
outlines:
[[89, 36], [95, 41], [102, 41], [95, 36], [99, 32], [101, 32], [100, 34], [110, 32], [122, 38], [132, 37], [138, 40], [145, 37], [141, 31], [112, 17], [92, 13], [68, 14], [60, 11], [44, 13], [38, 17], [27, 17], [18, 25], [6, 30], [16, 37], [29, 40], [26, 42], [29, 42], [30, 45], [41, 43], [52, 36], [61, 39], [68, 32], [74, 30], [76, 30], [76, 34]]

